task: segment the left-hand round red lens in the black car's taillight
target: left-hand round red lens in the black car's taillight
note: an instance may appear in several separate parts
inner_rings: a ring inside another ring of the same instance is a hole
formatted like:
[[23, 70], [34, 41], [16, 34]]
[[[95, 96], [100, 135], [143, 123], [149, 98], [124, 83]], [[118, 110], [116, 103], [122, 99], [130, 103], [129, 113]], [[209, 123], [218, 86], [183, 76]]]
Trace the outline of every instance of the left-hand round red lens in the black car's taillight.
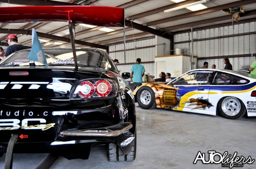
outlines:
[[84, 98], [88, 98], [95, 92], [94, 85], [90, 81], [83, 81], [78, 86], [78, 94]]

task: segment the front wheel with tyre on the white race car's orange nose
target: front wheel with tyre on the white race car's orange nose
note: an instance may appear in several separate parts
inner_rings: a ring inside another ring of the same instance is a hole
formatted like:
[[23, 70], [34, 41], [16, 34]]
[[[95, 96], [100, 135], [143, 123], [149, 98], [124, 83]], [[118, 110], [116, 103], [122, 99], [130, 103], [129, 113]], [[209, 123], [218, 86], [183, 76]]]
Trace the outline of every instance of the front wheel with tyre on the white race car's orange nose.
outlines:
[[148, 86], [143, 86], [137, 93], [137, 102], [142, 109], [155, 109], [155, 92]]

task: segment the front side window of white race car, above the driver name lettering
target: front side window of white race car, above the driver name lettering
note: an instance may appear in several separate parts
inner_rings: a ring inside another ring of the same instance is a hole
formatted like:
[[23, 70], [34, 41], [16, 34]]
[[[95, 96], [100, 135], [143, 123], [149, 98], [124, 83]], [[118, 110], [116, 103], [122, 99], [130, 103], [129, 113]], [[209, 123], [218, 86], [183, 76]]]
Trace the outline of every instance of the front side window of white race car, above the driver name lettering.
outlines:
[[206, 85], [209, 84], [209, 77], [212, 72], [191, 72], [181, 76], [173, 82], [175, 85]]

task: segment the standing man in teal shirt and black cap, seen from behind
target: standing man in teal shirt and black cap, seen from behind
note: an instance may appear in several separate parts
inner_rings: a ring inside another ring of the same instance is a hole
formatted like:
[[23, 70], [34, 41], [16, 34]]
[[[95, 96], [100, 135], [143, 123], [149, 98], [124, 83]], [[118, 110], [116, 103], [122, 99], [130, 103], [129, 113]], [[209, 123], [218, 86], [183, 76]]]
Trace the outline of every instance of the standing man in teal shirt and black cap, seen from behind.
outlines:
[[143, 65], [140, 65], [141, 59], [137, 58], [136, 64], [132, 65], [132, 74], [131, 74], [131, 82], [132, 83], [132, 92], [135, 88], [142, 85], [142, 77], [144, 76], [145, 68]]

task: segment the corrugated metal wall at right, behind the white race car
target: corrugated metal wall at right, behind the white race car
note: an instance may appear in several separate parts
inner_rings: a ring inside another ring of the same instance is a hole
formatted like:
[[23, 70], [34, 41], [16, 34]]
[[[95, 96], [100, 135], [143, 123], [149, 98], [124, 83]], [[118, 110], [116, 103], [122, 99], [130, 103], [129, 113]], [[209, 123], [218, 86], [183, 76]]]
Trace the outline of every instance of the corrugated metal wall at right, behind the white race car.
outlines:
[[[239, 21], [238, 21], [239, 22]], [[207, 29], [202, 31], [193, 32], [193, 39], [202, 39], [210, 37], [218, 37], [224, 35], [233, 35], [238, 33], [254, 32], [255, 22], [231, 25], [225, 27], [219, 27], [214, 29]], [[255, 32], [256, 33], [256, 32]], [[181, 33], [174, 35], [174, 42], [186, 41], [191, 39], [191, 32]], [[253, 47], [251, 45], [253, 44]], [[191, 43], [190, 43], [190, 52], [191, 52]], [[175, 44], [174, 48], [181, 48], [182, 53], [189, 54], [189, 43]], [[255, 34], [236, 36], [229, 38], [220, 38], [212, 40], [203, 40], [196, 41], [193, 43], [193, 54], [200, 57], [212, 57], [212, 56], [225, 56], [225, 55], [237, 55], [237, 54], [251, 54], [255, 53]], [[251, 57], [239, 57], [239, 58], [229, 58], [230, 63], [233, 65], [233, 70], [248, 68], [252, 61]], [[223, 69], [225, 64], [223, 59], [207, 59], [207, 60], [198, 60], [198, 68], [203, 66], [204, 61], [209, 63], [209, 68], [212, 64], [216, 65], [217, 69]]]

